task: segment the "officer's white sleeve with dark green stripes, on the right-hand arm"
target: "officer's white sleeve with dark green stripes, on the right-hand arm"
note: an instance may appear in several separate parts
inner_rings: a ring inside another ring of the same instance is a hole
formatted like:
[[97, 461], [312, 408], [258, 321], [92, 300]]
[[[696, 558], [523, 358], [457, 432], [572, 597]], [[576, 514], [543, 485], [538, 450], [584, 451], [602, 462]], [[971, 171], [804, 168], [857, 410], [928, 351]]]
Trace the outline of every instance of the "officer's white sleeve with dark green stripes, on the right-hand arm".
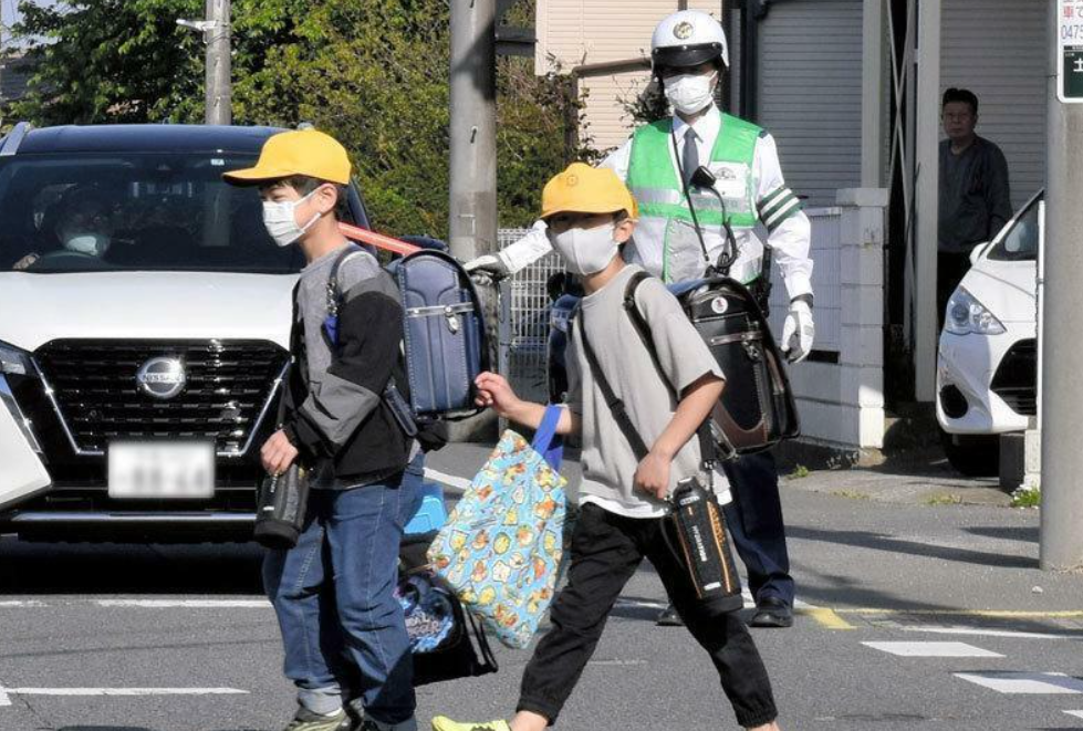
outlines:
[[790, 299], [812, 294], [812, 224], [801, 201], [787, 187], [774, 138], [764, 133], [756, 144], [752, 175], [757, 180], [756, 206], [768, 230], [768, 246], [782, 271]]

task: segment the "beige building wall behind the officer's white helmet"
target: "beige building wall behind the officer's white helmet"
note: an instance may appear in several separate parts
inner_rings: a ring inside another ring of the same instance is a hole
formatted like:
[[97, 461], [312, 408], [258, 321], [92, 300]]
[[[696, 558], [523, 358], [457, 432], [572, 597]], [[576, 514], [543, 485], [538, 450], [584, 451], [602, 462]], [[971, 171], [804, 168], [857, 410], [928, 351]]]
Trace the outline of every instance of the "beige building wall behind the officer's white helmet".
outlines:
[[[584, 64], [648, 58], [655, 25], [677, 7], [677, 0], [538, 0], [535, 70], [544, 74], [559, 66], [569, 73]], [[721, 19], [721, 0], [689, 1], [688, 7]], [[633, 98], [648, 81], [645, 71], [580, 81], [586, 93], [583, 132], [595, 148], [624, 143], [632, 119], [623, 101]]]

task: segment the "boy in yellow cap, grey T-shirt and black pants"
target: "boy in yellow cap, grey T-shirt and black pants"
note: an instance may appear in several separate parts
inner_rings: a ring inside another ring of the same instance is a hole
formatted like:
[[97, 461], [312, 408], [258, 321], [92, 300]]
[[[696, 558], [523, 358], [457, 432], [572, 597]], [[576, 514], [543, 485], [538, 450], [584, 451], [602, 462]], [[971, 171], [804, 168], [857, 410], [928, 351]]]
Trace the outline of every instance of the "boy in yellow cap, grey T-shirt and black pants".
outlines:
[[[543, 731], [594, 652], [606, 617], [644, 558], [650, 561], [688, 629], [710, 654], [738, 722], [778, 731], [767, 669], [739, 608], [700, 599], [683, 560], [667, 546], [665, 499], [685, 478], [700, 477], [704, 456], [693, 437], [718, 400], [723, 375], [677, 300], [657, 279], [635, 291], [650, 325], [657, 363], [624, 311], [628, 282], [642, 268], [626, 264], [621, 247], [635, 229], [636, 202], [612, 170], [573, 164], [542, 194], [542, 217], [553, 248], [580, 276], [584, 296], [567, 345], [567, 408], [558, 431], [582, 440], [583, 481], [571, 545], [567, 586], [553, 603], [552, 629], [527, 666], [514, 718], [488, 723], [433, 719], [434, 731]], [[594, 362], [584, 343], [590, 343]], [[593, 365], [593, 367], [592, 367]], [[638, 459], [596, 378], [614, 395], [648, 446]], [[670, 389], [669, 384], [676, 390]], [[478, 377], [478, 403], [537, 428], [541, 404], [516, 396], [499, 375]], [[650, 727], [660, 728], [664, 721]]]

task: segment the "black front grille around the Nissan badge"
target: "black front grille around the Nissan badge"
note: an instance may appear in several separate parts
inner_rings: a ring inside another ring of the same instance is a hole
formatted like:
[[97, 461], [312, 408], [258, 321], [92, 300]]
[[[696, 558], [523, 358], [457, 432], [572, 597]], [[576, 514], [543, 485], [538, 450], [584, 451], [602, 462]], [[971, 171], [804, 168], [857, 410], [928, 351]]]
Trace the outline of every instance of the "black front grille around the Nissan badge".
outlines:
[[[154, 357], [179, 358], [187, 380], [159, 400], [136, 386]], [[264, 341], [52, 341], [35, 358], [77, 450], [112, 439], [208, 439], [240, 455], [259, 427], [289, 354]]]

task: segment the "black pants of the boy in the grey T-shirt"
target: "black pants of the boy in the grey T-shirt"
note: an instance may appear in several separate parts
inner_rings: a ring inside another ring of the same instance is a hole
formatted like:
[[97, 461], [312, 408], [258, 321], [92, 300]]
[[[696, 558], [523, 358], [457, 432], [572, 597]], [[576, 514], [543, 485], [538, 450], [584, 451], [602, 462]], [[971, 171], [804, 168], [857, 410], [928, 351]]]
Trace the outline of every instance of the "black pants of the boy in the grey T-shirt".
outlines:
[[523, 673], [518, 710], [556, 721], [605, 620], [639, 563], [648, 558], [693, 636], [718, 669], [742, 727], [769, 723], [778, 716], [771, 681], [752, 636], [735, 612], [708, 608], [696, 596], [684, 566], [662, 537], [662, 520], [623, 518], [584, 504], [572, 534], [567, 586], [553, 603], [553, 627], [538, 644]]

